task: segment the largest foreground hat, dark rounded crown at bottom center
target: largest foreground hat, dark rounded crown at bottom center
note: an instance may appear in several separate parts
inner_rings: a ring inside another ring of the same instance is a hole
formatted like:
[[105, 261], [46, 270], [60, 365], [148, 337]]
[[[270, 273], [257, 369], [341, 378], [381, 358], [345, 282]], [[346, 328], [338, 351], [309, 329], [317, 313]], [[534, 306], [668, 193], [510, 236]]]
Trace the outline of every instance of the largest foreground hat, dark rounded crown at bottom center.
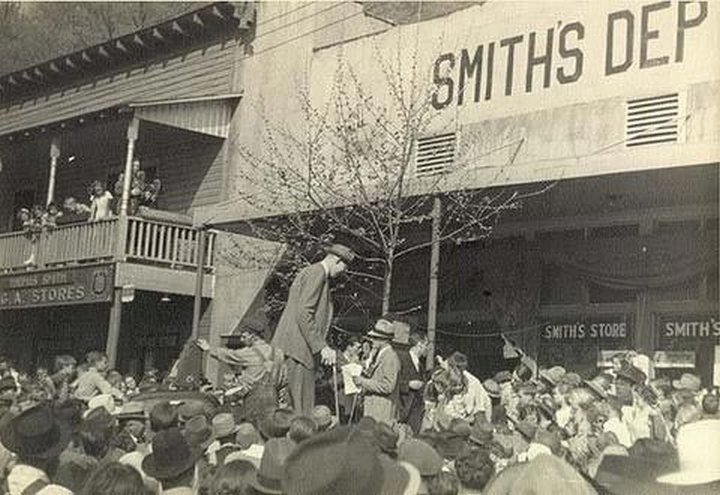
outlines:
[[367, 437], [339, 427], [298, 445], [287, 458], [282, 486], [288, 495], [377, 495], [384, 479]]

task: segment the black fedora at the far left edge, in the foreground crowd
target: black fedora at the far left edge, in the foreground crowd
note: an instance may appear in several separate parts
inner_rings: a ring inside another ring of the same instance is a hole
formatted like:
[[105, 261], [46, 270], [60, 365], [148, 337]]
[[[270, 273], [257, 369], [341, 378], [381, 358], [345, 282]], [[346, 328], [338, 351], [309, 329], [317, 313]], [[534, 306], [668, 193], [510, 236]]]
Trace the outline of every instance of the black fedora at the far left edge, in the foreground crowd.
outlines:
[[0, 440], [21, 458], [53, 459], [65, 450], [70, 429], [41, 404], [20, 413], [0, 431]]

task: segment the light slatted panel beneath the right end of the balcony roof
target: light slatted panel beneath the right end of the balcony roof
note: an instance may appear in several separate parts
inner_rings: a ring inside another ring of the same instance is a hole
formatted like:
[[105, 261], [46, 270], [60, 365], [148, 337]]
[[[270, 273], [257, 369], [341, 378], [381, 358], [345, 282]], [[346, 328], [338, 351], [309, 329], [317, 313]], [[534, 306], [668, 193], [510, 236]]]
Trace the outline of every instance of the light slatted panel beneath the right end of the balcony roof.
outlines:
[[229, 135], [241, 94], [130, 103], [135, 117], [219, 138]]

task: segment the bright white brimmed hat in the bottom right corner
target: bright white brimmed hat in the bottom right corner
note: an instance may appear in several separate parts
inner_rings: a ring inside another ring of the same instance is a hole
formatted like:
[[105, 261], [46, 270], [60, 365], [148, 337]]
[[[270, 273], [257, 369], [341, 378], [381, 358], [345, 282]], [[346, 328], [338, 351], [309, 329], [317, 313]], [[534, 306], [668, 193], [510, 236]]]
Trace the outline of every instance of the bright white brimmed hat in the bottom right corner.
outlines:
[[720, 480], [720, 420], [688, 423], [677, 435], [680, 470], [660, 476], [660, 483], [701, 485]]

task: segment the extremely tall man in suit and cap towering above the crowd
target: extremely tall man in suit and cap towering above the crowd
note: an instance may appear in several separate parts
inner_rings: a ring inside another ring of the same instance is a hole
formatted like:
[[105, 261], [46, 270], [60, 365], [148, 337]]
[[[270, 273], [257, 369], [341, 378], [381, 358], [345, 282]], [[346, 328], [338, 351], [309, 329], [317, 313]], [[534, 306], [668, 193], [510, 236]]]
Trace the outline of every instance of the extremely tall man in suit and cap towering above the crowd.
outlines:
[[333, 306], [329, 279], [345, 272], [355, 260], [347, 246], [333, 244], [325, 258], [303, 268], [290, 287], [288, 301], [275, 329], [271, 345], [283, 351], [290, 397], [298, 414], [310, 416], [315, 407], [315, 361], [335, 362], [335, 351], [326, 341]]

